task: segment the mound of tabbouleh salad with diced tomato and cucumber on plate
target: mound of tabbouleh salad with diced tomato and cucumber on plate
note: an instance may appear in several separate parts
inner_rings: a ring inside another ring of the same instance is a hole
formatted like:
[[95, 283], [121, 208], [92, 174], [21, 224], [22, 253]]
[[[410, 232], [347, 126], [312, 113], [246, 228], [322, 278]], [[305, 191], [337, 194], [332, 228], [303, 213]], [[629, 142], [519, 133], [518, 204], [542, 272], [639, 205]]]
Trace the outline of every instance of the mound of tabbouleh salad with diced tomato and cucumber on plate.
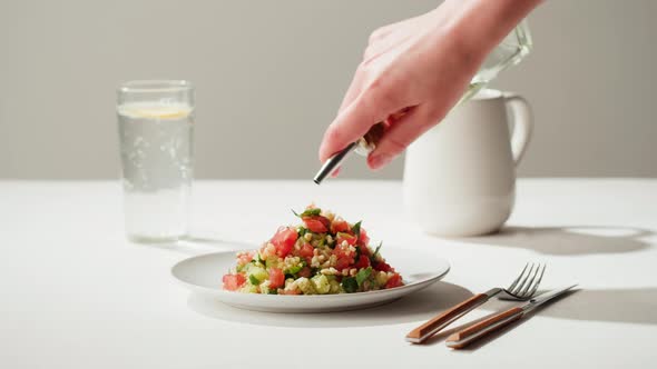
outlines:
[[281, 227], [259, 250], [237, 253], [224, 289], [244, 293], [330, 295], [403, 286], [402, 277], [371, 247], [361, 222], [350, 223], [314, 205], [302, 223]]

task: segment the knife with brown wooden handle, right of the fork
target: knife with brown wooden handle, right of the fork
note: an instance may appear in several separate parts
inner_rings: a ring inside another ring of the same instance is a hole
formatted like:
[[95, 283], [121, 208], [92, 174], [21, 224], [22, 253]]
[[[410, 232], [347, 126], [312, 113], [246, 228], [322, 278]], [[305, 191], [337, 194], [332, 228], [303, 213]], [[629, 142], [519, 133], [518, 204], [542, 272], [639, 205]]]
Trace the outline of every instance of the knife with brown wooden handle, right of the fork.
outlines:
[[572, 285], [566, 288], [552, 290], [550, 292], [542, 293], [533, 299], [529, 300], [526, 305], [521, 307], [513, 307], [507, 311], [497, 313], [483, 321], [480, 321], [473, 326], [470, 326], [461, 331], [458, 331], [445, 340], [445, 345], [452, 349], [461, 349], [465, 346], [470, 345], [471, 342], [475, 341], [477, 339], [490, 333], [497, 329], [500, 329], [512, 321], [516, 321], [522, 317], [524, 317], [528, 312], [532, 311], [533, 309], [540, 307], [541, 305], [553, 300], [555, 298], [562, 296], [563, 293], [568, 292], [577, 285]]

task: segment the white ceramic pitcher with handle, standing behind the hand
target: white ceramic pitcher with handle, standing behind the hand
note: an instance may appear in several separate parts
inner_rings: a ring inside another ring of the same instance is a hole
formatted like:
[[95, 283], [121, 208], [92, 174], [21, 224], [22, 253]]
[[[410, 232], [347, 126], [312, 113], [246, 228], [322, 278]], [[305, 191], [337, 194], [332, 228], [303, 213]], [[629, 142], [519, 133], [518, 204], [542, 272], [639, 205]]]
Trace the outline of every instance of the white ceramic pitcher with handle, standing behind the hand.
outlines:
[[513, 209], [516, 166], [531, 127], [529, 103], [512, 93], [486, 89], [453, 109], [406, 151], [406, 216], [444, 237], [500, 229]]

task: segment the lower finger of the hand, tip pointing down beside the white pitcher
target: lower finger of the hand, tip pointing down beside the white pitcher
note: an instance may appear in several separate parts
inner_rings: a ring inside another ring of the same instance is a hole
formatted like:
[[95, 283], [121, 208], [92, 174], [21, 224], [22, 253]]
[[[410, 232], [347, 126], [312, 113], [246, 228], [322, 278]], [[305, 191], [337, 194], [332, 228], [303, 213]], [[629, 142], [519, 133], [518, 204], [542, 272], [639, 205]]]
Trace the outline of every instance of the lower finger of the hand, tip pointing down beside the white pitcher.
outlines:
[[418, 137], [439, 122], [426, 104], [413, 108], [394, 121], [367, 157], [367, 166], [377, 170], [390, 163]]

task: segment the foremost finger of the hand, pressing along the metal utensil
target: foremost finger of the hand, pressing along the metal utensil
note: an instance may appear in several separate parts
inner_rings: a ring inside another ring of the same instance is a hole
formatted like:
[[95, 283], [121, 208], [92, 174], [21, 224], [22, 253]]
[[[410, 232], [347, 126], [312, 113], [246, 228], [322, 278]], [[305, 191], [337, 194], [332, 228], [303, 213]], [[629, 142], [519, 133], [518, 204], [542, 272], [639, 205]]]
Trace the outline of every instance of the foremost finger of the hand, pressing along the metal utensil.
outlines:
[[376, 122], [384, 120], [391, 113], [400, 110], [396, 92], [382, 86], [372, 83], [346, 108], [339, 112], [329, 126], [320, 147], [320, 161], [324, 162], [331, 156], [356, 141]]

